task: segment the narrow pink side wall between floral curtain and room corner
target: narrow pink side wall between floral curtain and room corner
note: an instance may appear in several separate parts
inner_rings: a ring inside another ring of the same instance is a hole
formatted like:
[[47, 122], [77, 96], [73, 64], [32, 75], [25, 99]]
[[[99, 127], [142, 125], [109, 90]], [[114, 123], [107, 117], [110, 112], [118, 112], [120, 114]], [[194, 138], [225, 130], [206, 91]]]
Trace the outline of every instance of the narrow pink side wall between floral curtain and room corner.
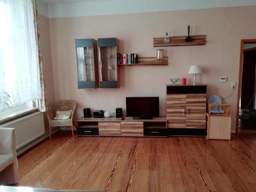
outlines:
[[[52, 67], [52, 53], [51, 53], [51, 40], [50, 40], [50, 26], [49, 18], [43, 15], [39, 15], [39, 27], [40, 27], [40, 43], [42, 63], [44, 65], [45, 75], [45, 94], [48, 104], [55, 101], [54, 83], [53, 83], [53, 67]], [[46, 132], [49, 130], [49, 123], [44, 114]]]

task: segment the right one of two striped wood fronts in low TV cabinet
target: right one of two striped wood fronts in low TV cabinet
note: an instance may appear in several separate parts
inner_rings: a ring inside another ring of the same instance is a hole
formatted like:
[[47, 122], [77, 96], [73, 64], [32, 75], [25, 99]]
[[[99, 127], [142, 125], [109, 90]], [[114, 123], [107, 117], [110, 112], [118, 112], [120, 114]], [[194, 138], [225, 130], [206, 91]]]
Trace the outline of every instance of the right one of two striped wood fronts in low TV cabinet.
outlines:
[[141, 121], [121, 122], [121, 135], [143, 137], [143, 122]]

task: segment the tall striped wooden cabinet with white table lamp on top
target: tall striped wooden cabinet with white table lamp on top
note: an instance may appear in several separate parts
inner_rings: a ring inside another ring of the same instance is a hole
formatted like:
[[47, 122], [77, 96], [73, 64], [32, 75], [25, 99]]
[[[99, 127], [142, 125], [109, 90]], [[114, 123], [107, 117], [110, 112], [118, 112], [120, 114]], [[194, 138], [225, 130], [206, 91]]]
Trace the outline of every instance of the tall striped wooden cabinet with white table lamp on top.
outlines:
[[205, 136], [206, 86], [167, 86], [168, 135]]

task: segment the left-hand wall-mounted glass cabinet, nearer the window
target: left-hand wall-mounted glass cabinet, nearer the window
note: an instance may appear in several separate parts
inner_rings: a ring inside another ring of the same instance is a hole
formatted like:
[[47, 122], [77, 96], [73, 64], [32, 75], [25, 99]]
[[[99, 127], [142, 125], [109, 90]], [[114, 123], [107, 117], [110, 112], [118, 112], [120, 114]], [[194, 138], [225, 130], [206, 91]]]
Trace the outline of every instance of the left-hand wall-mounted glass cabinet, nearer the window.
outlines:
[[78, 89], [96, 89], [98, 83], [97, 45], [95, 39], [75, 39]]

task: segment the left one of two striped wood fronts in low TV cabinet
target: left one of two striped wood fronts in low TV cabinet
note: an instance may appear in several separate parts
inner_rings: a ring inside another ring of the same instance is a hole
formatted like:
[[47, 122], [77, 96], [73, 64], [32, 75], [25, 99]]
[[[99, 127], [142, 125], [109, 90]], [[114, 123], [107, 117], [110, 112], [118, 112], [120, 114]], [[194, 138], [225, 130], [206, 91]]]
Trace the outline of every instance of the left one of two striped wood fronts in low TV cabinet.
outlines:
[[99, 135], [120, 136], [120, 122], [99, 122]]

